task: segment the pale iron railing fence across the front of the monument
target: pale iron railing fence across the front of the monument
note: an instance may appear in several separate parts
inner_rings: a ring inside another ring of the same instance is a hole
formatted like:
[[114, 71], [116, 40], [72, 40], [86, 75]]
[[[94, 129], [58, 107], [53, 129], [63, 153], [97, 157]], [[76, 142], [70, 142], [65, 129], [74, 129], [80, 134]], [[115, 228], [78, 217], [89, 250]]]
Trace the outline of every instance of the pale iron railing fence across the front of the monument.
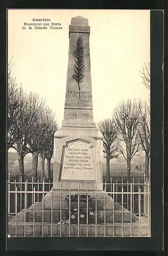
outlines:
[[[44, 178], [43, 182], [33, 178], [11, 182], [9, 175], [8, 233], [13, 237], [150, 237], [150, 182], [122, 179], [117, 183], [111, 178], [103, 187], [103, 191], [84, 191], [79, 184], [77, 191], [62, 186], [53, 190], [53, 183]], [[44, 205], [47, 193], [50, 209]], [[58, 195], [59, 210], [54, 203]]]

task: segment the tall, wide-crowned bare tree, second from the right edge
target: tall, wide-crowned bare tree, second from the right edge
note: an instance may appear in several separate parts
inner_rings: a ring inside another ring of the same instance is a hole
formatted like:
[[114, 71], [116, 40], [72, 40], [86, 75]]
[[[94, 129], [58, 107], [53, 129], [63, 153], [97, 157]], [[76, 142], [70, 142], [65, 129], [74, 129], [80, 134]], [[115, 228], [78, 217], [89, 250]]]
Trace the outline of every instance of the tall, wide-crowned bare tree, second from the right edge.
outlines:
[[127, 161], [127, 177], [130, 182], [131, 159], [140, 153], [138, 135], [139, 109], [141, 101], [131, 100], [120, 102], [114, 109], [114, 119], [119, 131], [119, 151]]

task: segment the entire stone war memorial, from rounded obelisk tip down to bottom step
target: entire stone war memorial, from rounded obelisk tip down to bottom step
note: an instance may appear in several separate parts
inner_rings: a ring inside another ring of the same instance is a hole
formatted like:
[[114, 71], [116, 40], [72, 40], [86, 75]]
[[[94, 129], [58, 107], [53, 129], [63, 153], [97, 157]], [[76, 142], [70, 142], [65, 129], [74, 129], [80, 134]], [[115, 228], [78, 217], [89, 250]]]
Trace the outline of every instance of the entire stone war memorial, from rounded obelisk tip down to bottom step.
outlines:
[[[10, 219], [11, 236], [149, 235], [147, 223], [140, 221], [139, 228], [138, 217], [103, 190], [103, 140], [93, 120], [89, 35], [87, 18], [71, 18], [64, 117], [54, 138], [53, 188], [41, 202], [18, 212], [17, 220]], [[86, 203], [82, 214], [81, 199]]]

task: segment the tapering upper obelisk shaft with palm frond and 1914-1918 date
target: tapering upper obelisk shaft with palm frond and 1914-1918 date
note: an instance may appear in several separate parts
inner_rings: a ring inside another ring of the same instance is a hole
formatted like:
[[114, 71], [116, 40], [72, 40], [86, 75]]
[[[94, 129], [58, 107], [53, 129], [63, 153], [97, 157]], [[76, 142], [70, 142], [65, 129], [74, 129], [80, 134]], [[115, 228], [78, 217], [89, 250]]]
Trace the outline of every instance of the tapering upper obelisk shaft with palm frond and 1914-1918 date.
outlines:
[[90, 27], [81, 16], [69, 25], [69, 54], [62, 127], [94, 127], [90, 73]]

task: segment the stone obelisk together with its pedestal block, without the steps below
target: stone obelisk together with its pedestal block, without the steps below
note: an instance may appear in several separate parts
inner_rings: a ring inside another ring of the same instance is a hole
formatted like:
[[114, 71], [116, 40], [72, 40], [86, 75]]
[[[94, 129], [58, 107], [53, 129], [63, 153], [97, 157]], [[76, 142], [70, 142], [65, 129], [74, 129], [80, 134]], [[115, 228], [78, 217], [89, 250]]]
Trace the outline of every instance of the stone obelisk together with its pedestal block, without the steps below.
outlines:
[[93, 120], [88, 20], [69, 25], [64, 118], [55, 133], [53, 189], [103, 189], [102, 135]]

